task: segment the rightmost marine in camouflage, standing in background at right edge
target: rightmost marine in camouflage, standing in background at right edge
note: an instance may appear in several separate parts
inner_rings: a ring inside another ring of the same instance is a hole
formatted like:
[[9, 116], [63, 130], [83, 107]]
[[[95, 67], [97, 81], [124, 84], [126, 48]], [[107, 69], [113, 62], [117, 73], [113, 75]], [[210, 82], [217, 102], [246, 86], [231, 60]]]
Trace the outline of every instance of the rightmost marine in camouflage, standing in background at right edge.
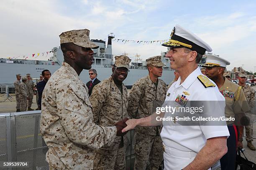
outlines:
[[[245, 73], [240, 73], [238, 74], [239, 76], [239, 83], [238, 85], [242, 87], [243, 93], [246, 97], [246, 100], [251, 108], [254, 108], [255, 104], [255, 91], [253, 88], [251, 88], [248, 84], [245, 83], [246, 81], [246, 74]], [[243, 82], [241, 82], [243, 81]], [[252, 141], [253, 141], [253, 118], [251, 113], [247, 113], [246, 116], [250, 119], [250, 124], [248, 126], [245, 126], [246, 129], [246, 141], [247, 141], [247, 146], [251, 150], [256, 150], [255, 146], [253, 146]], [[243, 140], [243, 138], [241, 138]]]

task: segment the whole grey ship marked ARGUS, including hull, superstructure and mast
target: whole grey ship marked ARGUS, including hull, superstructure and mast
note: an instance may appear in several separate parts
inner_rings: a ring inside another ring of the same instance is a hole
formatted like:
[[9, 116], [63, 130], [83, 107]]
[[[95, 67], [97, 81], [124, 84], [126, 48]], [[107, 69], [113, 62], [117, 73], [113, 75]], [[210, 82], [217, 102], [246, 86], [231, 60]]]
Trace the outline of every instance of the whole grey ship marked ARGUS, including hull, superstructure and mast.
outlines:
[[[92, 68], [97, 70], [98, 79], [101, 81], [107, 79], [112, 74], [111, 69], [114, 63], [114, 56], [112, 54], [111, 40], [114, 37], [113, 33], [110, 33], [108, 35], [107, 44], [102, 40], [91, 40], [100, 46], [97, 49], [92, 49], [94, 51], [94, 63], [92, 64]], [[32, 78], [39, 78], [39, 75], [44, 69], [50, 70], [53, 74], [61, 67], [61, 63], [63, 62], [63, 53], [60, 47], [53, 48], [52, 52], [53, 57], [49, 61], [0, 58], [0, 84], [13, 84], [16, 79], [16, 74], [26, 76], [26, 74], [29, 73]], [[164, 80], [166, 84], [169, 84], [174, 79], [174, 71], [170, 69], [169, 58], [166, 58], [165, 55], [166, 52], [161, 52], [162, 62], [165, 64], [161, 79]], [[125, 86], [128, 87], [132, 86], [135, 81], [148, 74], [146, 61], [132, 62], [129, 70], [130, 72], [123, 82]], [[79, 77], [84, 81], [84, 83], [90, 81], [87, 70], [83, 70]]]

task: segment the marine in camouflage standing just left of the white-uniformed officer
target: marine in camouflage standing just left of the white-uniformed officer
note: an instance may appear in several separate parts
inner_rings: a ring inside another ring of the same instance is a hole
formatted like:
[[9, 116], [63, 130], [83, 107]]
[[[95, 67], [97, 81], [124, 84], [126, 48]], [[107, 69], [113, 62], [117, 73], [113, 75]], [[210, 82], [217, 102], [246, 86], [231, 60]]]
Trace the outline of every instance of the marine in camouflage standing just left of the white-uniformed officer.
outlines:
[[[149, 75], [133, 84], [128, 100], [128, 114], [132, 118], [140, 119], [148, 117], [161, 107], [167, 87], [161, 76], [161, 56], [155, 56], [146, 60]], [[161, 126], [136, 127], [135, 144], [135, 170], [158, 170], [163, 160], [162, 140], [160, 137]]]

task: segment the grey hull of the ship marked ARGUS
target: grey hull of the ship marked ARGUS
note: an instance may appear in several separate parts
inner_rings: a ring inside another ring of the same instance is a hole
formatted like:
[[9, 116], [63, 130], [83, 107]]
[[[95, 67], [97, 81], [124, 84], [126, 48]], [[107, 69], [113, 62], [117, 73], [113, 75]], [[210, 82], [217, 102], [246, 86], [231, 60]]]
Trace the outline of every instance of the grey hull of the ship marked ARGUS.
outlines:
[[[47, 69], [53, 74], [60, 67], [59, 65], [0, 63], [0, 84], [13, 84], [16, 79], [16, 74], [20, 74], [21, 76], [31, 74], [32, 78], [39, 78], [43, 70]], [[92, 65], [92, 68], [97, 70], [97, 78], [101, 81], [107, 79], [112, 74], [112, 69], [109, 67], [106, 68], [103, 65]], [[132, 86], [135, 81], [148, 75], [148, 70], [146, 69], [129, 70], [130, 72], [127, 78], [123, 81], [125, 86]], [[90, 81], [87, 70], [83, 70], [79, 77], [84, 83]], [[163, 76], [160, 79], [164, 80], [166, 84], [169, 84], [174, 79], [173, 71], [163, 71]]]

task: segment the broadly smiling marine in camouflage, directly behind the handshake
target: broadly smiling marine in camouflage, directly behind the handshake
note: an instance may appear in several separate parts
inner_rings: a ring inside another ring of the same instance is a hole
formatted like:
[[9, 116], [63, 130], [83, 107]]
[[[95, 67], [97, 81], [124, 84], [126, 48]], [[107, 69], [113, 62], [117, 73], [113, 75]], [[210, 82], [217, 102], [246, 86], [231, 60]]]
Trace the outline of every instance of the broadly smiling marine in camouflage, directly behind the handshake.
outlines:
[[[128, 116], [128, 92], [123, 84], [131, 59], [115, 56], [115, 68], [110, 78], [100, 82], [92, 89], [90, 101], [94, 122], [100, 126], [113, 126]], [[123, 69], [123, 71], [118, 71]], [[123, 72], [123, 73], [122, 73]], [[116, 74], [118, 73], [118, 74]], [[121, 79], [118, 77], [122, 74]], [[128, 139], [115, 137], [113, 144], [96, 150], [93, 166], [95, 170], [125, 170], [125, 150]]]

